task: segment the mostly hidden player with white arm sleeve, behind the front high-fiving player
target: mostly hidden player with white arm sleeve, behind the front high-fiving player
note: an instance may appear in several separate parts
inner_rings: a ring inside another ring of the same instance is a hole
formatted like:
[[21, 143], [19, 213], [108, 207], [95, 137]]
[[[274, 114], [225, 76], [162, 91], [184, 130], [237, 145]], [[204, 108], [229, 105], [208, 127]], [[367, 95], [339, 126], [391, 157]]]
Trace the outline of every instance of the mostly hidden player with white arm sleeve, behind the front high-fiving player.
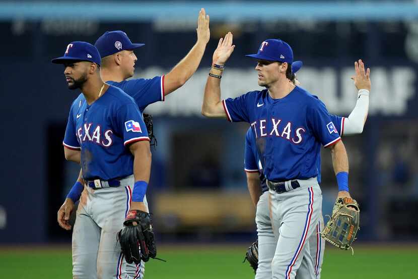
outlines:
[[[296, 73], [302, 67], [302, 62], [292, 63], [292, 73]], [[369, 92], [370, 92], [370, 73], [366, 75], [364, 64], [361, 60], [355, 63], [356, 75], [353, 77], [358, 89], [358, 99], [356, 106], [348, 118], [329, 115], [340, 135], [360, 134], [363, 131], [364, 123], [368, 115]], [[292, 80], [295, 85], [299, 81]], [[320, 170], [321, 164], [318, 161], [318, 183], [321, 183]], [[254, 133], [248, 129], [245, 139], [245, 160], [244, 170], [247, 175], [248, 189], [251, 199], [256, 206], [255, 221], [258, 236], [258, 266], [255, 278], [271, 278], [271, 261], [274, 256], [276, 239], [271, 228], [271, 221], [268, 209], [268, 189], [266, 180], [262, 172], [261, 160], [257, 152]], [[261, 182], [261, 185], [260, 185]], [[311, 257], [314, 260], [314, 272], [316, 278], [321, 276], [322, 261], [325, 249], [325, 242], [320, 238], [319, 233], [323, 230], [324, 221], [320, 217], [319, 224], [316, 226], [317, 232], [309, 239]]]

